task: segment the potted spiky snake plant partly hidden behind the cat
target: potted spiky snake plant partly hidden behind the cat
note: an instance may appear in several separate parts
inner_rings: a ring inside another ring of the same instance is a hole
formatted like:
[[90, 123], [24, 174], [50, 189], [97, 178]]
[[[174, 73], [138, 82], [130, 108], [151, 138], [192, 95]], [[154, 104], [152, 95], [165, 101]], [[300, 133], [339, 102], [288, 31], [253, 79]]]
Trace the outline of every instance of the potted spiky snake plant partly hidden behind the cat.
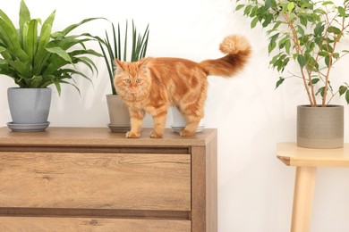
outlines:
[[[149, 41], [149, 25], [143, 34], [137, 34], [137, 29], [132, 21], [132, 37], [128, 37], [128, 21], [126, 21], [123, 41], [121, 39], [121, 29], [118, 23], [117, 32], [114, 23], [112, 23], [112, 36], [106, 32], [106, 38], [99, 41], [103, 57], [106, 62], [108, 71], [108, 80], [110, 82], [112, 94], [106, 95], [106, 104], [108, 106], [110, 123], [108, 127], [114, 132], [126, 132], [130, 130], [130, 112], [126, 104], [117, 95], [114, 87], [114, 71], [116, 68], [115, 58], [120, 61], [137, 62], [144, 58], [147, 54]], [[129, 41], [130, 39], [130, 41]], [[128, 43], [131, 42], [131, 43]], [[131, 47], [129, 46], [131, 45]], [[127, 55], [127, 51], [131, 49], [131, 56]]]

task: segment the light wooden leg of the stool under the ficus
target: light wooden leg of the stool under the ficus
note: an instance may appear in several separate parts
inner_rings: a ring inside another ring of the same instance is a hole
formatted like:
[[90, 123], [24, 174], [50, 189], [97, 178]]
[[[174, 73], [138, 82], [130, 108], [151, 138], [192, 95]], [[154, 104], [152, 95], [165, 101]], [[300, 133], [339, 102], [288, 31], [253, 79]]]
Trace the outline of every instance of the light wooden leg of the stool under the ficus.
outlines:
[[309, 232], [311, 229], [316, 170], [316, 167], [296, 167], [291, 232]]

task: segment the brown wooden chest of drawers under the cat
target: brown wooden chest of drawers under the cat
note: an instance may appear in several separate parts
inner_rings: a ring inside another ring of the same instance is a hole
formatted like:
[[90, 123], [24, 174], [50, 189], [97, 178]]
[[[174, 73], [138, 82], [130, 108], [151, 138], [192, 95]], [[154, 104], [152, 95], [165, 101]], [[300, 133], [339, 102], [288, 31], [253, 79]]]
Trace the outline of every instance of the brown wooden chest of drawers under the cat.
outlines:
[[217, 130], [0, 128], [0, 231], [217, 231]]

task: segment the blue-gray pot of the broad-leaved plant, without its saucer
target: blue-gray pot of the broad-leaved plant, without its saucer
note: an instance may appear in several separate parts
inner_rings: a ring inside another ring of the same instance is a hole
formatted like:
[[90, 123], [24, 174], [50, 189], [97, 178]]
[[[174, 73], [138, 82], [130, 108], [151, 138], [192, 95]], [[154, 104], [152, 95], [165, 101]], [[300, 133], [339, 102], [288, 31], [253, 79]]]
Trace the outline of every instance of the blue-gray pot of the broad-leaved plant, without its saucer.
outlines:
[[10, 87], [8, 104], [13, 124], [47, 124], [51, 105], [51, 88]]

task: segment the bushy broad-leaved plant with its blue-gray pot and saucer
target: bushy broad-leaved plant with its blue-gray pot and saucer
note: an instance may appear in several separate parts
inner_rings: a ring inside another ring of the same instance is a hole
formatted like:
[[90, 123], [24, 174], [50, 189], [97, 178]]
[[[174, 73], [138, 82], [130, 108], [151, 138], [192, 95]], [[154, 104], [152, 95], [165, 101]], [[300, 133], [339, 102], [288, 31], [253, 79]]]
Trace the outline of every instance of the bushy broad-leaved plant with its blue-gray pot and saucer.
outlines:
[[[13, 131], [42, 131], [51, 103], [51, 88], [61, 94], [61, 84], [74, 84], [74, 77], [89, 79], [74, 65], [85, 64], [97, 70], [89, 55], [101, 56], [86, 49], [85, 43], [96, 40], [88, 33], [73, 34], [81, 24], [101, 18], [89, 18], [72, 24], [62, 31], [52, 32], [55, 11], [46, 21], [31, 19], [30, 11], [21, 1], [19, 29], [0, 10], [0, 74], [12, 78], [19, 87], [8, 88], [8, 101], [13, 121], [7, 123]], [[39, 26], [41, 25], [40, 29]], [[90, 79], [89, 79], [90, 81]]]

